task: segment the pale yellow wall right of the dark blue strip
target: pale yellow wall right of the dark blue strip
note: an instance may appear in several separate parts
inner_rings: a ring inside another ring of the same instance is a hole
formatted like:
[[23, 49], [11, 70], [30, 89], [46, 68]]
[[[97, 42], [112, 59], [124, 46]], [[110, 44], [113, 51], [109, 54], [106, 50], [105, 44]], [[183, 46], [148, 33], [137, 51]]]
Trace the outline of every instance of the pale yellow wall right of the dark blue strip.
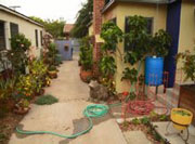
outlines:
[[[193, 0], [183, 0], [181, 5], [181, 19], [180, 19], [180, 40], [179, 52], [195, 48], [195, 2]], [[177, 69], [182, 67], [182, 63], [178, 63]], [[178, 73], [177, 79], [180, 79], [181, 73]], [[184, 81], [184, 74], [182, 73], [182, 82], [192, 82], [191, 80]]]

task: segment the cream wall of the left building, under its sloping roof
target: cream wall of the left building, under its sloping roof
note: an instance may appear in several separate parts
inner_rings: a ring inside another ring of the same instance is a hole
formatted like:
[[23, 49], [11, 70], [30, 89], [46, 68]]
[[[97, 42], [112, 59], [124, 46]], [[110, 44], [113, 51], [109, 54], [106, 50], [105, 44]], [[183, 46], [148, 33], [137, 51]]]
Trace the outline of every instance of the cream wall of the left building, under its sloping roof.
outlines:
[[[32, 53], [36, 56], [40, 55], [40, 49], [41, 49], [41, 40], [40, 40], [40, 31], [42, 30], [43, 35], [44, 35], [44, 30], [42, 27], [35, 25], [32, 23], [29, 23], [18, 16], [15, 16], [13, 14], [9, 14], [4, 11], [0, 11], [0, 21], [5, 22], [5, 37], [6, 37], [6, 49], [11, 49], [10, 48], [10, 42], [9, 39], [11, 38], [11, 34], [10, 34], [10, 23], [14, 23], [18, 25], [18, 31], [20, 34], [24, 34], [26, 36], [27, 39], [29, 39], [31, 41], [31, 47], [34, 47], [32, 49]], [[36, 36], [35, 36], [35, 29], [38, 29], [38, 41], [39, 41], [39, 48], [36, 48]]]

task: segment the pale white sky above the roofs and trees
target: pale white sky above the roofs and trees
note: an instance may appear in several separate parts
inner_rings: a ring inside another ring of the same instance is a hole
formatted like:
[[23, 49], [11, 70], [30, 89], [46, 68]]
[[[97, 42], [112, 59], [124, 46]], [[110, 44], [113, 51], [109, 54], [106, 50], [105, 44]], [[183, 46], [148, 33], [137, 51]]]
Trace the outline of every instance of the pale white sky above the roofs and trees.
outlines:
[[5, 6], [20, 5], [16, 11], [27, 16], [37, 16], [43, 19], [64, 18], [73, 24], [81, 4], [87, 0], [0, 0]]

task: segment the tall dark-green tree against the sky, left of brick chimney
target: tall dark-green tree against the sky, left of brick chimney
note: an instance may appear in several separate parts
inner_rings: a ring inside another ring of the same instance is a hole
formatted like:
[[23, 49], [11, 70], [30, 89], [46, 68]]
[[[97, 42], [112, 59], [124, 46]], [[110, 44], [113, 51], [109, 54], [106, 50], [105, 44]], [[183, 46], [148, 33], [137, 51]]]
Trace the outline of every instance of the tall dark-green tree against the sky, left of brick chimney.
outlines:
[[75, 26], [72, 29], [72, 35], [75, 38], [82, 38], [88, 35], [88, 25], [93, 17], [93, 0], [88, 0], [82, 4], [81, 10], [78, 12]]

